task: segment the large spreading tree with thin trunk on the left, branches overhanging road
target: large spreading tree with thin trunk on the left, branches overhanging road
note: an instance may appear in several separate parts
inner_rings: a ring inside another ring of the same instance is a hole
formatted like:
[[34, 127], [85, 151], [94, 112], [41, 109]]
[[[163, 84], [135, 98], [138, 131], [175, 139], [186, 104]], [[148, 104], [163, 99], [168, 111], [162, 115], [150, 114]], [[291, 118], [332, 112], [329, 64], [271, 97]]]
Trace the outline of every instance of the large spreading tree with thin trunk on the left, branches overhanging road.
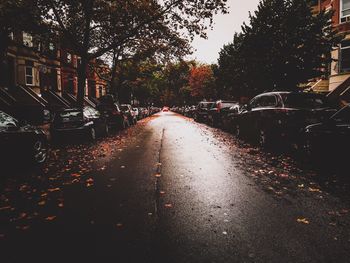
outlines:
[[[128, 47], [147, 33], [193, 39], [205, 37], [213, 15], [226, 13], [226, 0], [38, 0], [45, 20], [81, 57], [78, 73], [78, 103], [84, 99], [89, 61]], [[169, 39], [170, 40], [170, 39]], [[171, 43], [169, 41], [168, 43]]]

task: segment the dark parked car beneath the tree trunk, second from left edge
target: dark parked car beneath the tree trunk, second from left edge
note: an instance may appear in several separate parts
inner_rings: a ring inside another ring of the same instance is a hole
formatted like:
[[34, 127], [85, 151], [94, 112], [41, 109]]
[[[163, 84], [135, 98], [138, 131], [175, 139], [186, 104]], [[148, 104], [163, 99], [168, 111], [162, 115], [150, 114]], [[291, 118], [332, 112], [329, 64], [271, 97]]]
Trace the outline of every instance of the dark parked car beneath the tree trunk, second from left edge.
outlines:
[[51, 123], [52, 139], [78, 135], [95, 140], [109, 134], [109, 125], [101, 113], [92, 107], [66, 109], [55, 114]]

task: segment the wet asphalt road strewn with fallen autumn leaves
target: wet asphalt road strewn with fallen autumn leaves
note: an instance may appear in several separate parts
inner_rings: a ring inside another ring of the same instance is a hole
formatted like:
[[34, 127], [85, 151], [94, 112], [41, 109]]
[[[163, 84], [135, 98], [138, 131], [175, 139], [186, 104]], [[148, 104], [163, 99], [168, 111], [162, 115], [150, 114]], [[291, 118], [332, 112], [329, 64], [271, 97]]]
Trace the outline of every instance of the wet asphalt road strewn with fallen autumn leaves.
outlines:
[[2, 181], [1, 262], [349, 262], [348, 202], [318, 174], [188, 118], [50, 162]]

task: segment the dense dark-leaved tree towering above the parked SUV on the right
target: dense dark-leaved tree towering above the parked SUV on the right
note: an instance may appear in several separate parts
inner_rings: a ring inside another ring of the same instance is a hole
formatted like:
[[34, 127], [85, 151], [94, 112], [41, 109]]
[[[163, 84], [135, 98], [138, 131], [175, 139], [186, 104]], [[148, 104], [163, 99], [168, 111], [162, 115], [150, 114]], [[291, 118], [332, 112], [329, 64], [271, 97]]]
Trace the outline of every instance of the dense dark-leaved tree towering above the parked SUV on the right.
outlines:
[[313, 15], [311, 1], [262, 0], [250, 24], [221, 50], [219, 75], [231, 78], [232, 92], [253, 96], [295, 90], [327, 74], [329, 54], [339, 41], [331, 17], [326, 11]]

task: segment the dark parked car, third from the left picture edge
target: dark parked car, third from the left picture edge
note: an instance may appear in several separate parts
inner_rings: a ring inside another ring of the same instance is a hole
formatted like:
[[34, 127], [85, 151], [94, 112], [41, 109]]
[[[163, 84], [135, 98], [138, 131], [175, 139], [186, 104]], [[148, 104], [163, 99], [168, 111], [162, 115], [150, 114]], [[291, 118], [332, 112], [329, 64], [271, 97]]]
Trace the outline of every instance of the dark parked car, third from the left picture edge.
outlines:
[[129, 125], [127, 116], [122, 112], [117, 102], [101, 101], [97, 105], [97, 109], [107, 120], [109, 127], [125, 129]]

